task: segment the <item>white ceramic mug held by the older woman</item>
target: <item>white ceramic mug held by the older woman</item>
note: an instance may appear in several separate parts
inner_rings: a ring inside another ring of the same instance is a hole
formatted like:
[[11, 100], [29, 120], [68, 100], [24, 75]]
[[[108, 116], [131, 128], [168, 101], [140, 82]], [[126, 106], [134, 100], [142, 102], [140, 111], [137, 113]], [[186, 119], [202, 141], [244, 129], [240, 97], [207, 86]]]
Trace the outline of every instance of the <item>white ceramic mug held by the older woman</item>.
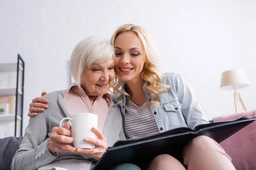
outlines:
[[74, 147], [76, 148], [87, 148], [93, 149], [94, 145], [91, 143], [84, 142], [85, 137], [96, 139], [96, 134], [92, 131], [93, 126], [98, 127], [98, 116], [93, 113], [75, 113], [72, 118], [66, 117], [61, 120], [60, 127], [62, 127], [62, 122], [64, 120], [69, 120], [72, 122], [71, 125], [71, 135], [74, 138]]

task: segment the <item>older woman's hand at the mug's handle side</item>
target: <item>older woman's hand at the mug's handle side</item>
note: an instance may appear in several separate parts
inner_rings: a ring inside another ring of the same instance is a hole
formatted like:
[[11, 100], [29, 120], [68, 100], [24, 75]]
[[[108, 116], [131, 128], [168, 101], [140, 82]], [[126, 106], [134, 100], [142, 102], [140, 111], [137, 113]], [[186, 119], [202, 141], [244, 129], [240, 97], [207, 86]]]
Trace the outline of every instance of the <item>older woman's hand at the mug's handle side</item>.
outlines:
[[52, 134], [48, 139], [48, 150], [54, 154], [56, 152], [75, 152], [76, 147], [72, 147], [67, 143], [72, 143], [74, 139], [70, 136], [70, 124], [65, 123], [63, 127], [53, 127]]

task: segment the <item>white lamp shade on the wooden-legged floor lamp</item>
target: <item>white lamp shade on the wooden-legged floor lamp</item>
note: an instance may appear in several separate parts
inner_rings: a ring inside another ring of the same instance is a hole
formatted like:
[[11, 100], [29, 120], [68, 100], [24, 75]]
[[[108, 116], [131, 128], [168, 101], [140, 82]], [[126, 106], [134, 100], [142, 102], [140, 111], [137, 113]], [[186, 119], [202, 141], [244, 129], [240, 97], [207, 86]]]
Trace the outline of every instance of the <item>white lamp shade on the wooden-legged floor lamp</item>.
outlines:
[[249, 85], [249, 81], [241, 69], [225, 71], [221, 75], [221, 90], [234, 90]]

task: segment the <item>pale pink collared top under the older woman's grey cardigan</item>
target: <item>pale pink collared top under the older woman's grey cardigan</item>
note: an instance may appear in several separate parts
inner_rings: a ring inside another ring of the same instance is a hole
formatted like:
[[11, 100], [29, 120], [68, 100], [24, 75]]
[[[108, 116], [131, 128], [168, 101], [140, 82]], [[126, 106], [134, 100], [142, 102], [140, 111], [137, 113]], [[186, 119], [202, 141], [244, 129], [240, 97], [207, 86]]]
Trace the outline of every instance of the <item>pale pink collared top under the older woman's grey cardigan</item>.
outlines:
[[70, 115], [75, 113], [94, 113], [98, 115], [98, 127], [103, 132], [110, 102], [112, 103], [111, 94], [97, 96], [92, 105], [84, 90], [79, 88], [76, 83], [72, 83], [68, 89], [63, 91], [63, 96]]

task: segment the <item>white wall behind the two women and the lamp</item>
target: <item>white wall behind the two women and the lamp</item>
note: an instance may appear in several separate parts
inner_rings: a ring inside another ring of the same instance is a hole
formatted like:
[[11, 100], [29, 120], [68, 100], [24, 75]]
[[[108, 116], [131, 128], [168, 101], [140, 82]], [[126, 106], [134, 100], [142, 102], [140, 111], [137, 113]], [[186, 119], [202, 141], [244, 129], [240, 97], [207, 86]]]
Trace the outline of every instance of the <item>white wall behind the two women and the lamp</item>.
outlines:
[[219, 90], [228, 69], [245, 71], [251, 85], [239, 92], [256, 109], [255, 0], [0, 0], [0, 62], [19, 53], [26, 63], [24, 127], [33, 98], [69, 85], [74, 46], [125, 23], [151, 33], [163, 71], [192, 85], [208, 119], [235, 112], [233, 92]]

